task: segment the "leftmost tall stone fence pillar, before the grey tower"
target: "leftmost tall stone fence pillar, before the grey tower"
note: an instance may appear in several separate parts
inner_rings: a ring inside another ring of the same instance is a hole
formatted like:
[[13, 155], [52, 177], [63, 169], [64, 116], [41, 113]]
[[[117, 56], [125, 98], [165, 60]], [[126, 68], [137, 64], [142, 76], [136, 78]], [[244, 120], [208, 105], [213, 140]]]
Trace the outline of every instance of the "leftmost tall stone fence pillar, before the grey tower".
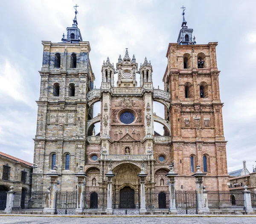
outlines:
[[58, 178], [61, 176], [57, 173], [57, 166], [53, 167], [53, 170], [51, 173], [47, 173], [47, 176], [49, 176], [50, 179], [50, 199], [49, 199], [49, 208], [46, 213], [48, 214], [54, 214], [56, 210], [56, 193], [57, 193], [57, 184], [58, 184]]

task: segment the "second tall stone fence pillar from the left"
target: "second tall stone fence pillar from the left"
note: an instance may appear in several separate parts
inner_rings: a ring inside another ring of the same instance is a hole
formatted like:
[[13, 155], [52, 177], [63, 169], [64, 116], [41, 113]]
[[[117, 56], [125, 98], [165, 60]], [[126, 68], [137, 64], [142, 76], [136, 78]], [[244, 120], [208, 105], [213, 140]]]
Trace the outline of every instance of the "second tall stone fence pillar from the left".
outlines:
[[84, 167], [79, 167], [80, 171], [75, 173], [75, 176], [78, 177], [77, 181], [77, 204], [76, 204], [76, 214], [81, 214], [83, 212], [83, 192], [85, 185], [85, 178], [87, 175], [84, 173]]

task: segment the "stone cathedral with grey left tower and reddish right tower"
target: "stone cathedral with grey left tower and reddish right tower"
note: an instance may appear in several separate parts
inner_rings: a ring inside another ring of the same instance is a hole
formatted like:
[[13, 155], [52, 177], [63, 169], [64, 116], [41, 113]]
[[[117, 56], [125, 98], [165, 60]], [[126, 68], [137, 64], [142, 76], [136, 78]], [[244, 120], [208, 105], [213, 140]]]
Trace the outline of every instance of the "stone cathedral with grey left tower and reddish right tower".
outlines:
[[[145, 58], [138, 65], [127, 48], [116, 65], [107, 58], [102, 74], [93, 74], [90, 43], [83, 41], [76, 16], [60, 43], [42, 41], [32, 190], [47, 190], [54, 166], [61, 175], [58, 190], [76, 190], [74, 174], [81, 167], [85, 190], [106, 190], [109, 166], [115, 191], [139, 191], [141, 169], [148, 174], [146, 191], [168, 190], [165, 175], [172, 163], [177, 190], [195, 190], [197, 165], [206, 173], [208, 190], [227, 190], [218, 43], [196, 44], [186, 23], [183, 13], [177, 43], [167, 48], [163, 90], [153, 85], [160, 74], [153, 73], [151, 62]], [[95, 79], [102, 80], [100, 88], [94, 88]], [[163, 118], [154, 113], [154, 101], [164, 105]], [[101, 112], [93, 117], [96, 102]], [[163, 125], [163, 136], [154, 122]]]

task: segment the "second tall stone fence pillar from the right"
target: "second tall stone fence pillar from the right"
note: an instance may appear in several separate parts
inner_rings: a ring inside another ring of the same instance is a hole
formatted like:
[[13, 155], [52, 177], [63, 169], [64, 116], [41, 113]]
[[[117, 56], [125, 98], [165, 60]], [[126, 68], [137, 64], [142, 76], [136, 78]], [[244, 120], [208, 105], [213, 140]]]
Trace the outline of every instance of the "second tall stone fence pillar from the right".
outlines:
[[175, 176], [177, 176], [177, 173], [174, 173], [173, 170], [174, 164], [170, 164], [169, 168], [170, 171], [169, 173], [166, 174], [166, 177], [169, 179], [169, 194], [170, 194], [170, 213], [171, 214], [177, 214], [177, 209], [176, 209], [176, 203], [175, 203]]

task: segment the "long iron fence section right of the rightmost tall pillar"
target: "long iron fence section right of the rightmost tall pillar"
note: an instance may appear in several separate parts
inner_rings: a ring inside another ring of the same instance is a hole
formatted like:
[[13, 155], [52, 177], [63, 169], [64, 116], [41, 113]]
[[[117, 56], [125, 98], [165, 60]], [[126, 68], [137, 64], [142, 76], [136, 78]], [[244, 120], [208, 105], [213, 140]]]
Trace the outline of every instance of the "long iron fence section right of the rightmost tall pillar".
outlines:
[[209, 190], [208, 206], [210, 210], [245, 210], [243, 190]]

